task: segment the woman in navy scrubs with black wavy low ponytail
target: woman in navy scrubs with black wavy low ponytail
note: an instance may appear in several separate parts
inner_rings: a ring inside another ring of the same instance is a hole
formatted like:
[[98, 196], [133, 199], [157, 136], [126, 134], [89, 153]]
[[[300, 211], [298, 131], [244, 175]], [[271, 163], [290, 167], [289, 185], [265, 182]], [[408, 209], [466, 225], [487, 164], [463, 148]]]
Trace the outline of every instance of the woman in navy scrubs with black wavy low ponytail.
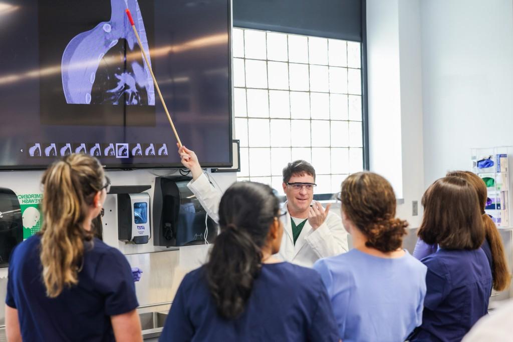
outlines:
[[272, 189], [232, 185], [206, 265], [188, 273], [160, 341], [339, 341], [320, 275], [272, 257], [283, 224]]

